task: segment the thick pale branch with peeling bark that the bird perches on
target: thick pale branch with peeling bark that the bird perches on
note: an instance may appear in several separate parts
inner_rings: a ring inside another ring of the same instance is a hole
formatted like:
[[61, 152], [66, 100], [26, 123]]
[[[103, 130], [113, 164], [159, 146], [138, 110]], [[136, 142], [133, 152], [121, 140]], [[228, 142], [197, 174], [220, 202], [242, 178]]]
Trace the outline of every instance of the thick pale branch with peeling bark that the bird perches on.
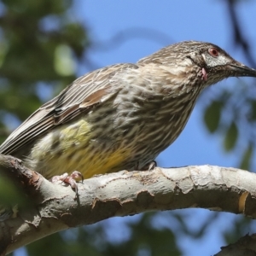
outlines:
[[146, 211], [201, 207], [256, 218], [256, 174], [235, 168], [110, 173], [79, 183], [76, 200], [70, 187], [50, 183], [20, 160], [0, 154], [3, 176], [22, 190], [29, 204], [17, 202], [17, 216], [0, 222], [1, 255], [60, 230]]

